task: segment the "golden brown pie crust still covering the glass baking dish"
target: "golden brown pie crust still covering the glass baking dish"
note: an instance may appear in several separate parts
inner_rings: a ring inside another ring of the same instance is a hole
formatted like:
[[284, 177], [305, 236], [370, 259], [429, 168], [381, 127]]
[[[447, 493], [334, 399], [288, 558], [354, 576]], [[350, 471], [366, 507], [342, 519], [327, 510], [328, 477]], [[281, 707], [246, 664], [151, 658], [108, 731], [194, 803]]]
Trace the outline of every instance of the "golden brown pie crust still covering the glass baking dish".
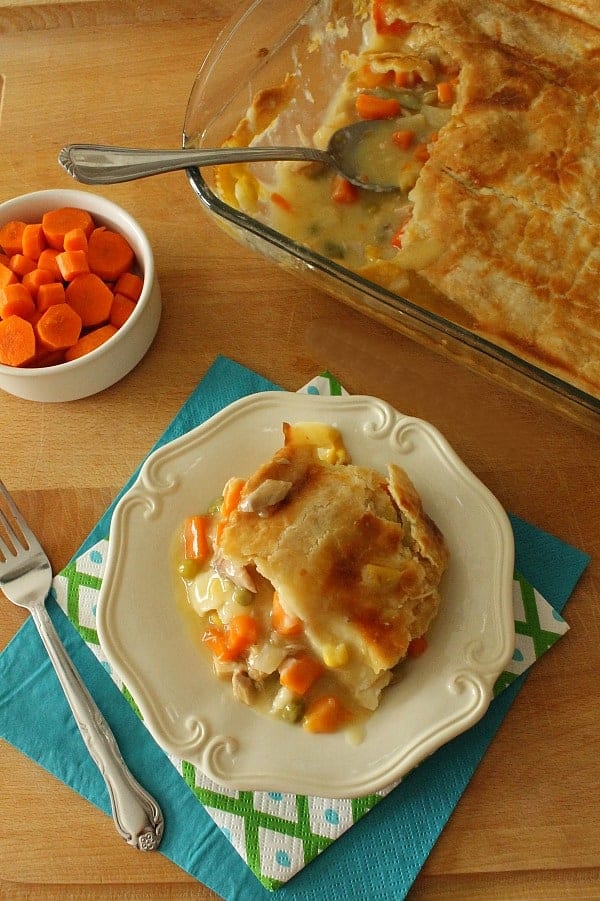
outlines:
[[385, 9], [415, 23], [410, 51], [440, 47], [460, 69], [411, 194], [405, 245], [444, 248], [421, 276], [484, 336], [600, 395], [600, 5]]

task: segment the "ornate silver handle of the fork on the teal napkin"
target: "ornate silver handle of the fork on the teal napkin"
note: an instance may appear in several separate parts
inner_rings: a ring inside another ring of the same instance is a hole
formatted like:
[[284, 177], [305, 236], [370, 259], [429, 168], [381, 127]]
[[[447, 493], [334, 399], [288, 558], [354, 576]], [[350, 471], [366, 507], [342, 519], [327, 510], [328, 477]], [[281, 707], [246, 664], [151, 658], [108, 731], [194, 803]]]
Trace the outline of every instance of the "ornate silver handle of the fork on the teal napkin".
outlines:
[[106, 783], [117, 831], [134, 848], [155, 850], [160, 844], [164, 827], [160, 807], [127, 768], [108, 723], [75, 669], [46, 607], [35, 606], [31, 615], [81, 737]]

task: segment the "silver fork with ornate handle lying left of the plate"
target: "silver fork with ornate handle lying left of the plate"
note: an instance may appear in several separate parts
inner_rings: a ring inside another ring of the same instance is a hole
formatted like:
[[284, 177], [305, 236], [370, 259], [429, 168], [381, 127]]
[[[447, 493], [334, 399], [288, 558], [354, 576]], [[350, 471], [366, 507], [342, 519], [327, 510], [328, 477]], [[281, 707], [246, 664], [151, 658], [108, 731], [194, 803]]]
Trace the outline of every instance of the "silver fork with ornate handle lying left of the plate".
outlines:
[[117, 831], [134, 848], [153, 851], [163, 833], [161, 809], [128, 770], [108, 723], [58, 637], [46, 610], [51, 584], [48, 557], [0, 481], [0, 588], [9, 601], [31, 614], [81, 736], [106, 783]]

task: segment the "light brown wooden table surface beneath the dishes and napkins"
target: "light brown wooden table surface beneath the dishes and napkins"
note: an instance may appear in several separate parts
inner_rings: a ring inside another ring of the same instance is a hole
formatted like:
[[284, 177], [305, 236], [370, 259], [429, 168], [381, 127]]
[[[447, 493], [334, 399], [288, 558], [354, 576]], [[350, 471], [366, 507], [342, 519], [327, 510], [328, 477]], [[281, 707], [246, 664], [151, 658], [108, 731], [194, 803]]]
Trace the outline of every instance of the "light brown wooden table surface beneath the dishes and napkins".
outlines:
[[[194, 75], [235, 6], [0, 0], [2, 199], [73, 187], [56, 163], [65, 143], [178, 146]], [[104, 193], [154, 246], [156, 341], [96, 397], [38, 405], [3, 394], [0, 404], [2, 479], [55, 569], [217, 354], [290, 390], [329, 367], [351, 392], [435, 423], [507, 509], [593, 559], [566, 611], [570, 633], [534, 667], [411, 898], [600, 898], [598, 435], [234, 245], [181, 173]], [[3, 604], [0, 646], [23, 618]], [[3, 899], [215, 897], [161, 855], [142, 860], [110, 819], [5, 744], [0, 824]]]

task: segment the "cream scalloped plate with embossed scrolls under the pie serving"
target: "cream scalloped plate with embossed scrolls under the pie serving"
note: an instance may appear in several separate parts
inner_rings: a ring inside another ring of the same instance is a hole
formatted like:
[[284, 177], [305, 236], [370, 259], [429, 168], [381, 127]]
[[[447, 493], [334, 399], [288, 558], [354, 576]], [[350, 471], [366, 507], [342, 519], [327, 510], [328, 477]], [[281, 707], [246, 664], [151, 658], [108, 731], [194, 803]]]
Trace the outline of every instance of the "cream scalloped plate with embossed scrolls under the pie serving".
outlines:
[[[233, 700], [174, 600], [169, 547], [182, 519], [282, 444], [283, 421], [337, 426], [355, 463], [403, 466], [451, 562], [427, 652], [386, 689], [362, 743], [312, 735]], [[230, 789], [356, 797], [404, 776], [485, 713], [514, 647], [514, 543], [494, 496], [440, 433], [371, 397], [265, 392], [155, 451], [115, 509], [98, 605], [100, 643], [169, 754]]]

